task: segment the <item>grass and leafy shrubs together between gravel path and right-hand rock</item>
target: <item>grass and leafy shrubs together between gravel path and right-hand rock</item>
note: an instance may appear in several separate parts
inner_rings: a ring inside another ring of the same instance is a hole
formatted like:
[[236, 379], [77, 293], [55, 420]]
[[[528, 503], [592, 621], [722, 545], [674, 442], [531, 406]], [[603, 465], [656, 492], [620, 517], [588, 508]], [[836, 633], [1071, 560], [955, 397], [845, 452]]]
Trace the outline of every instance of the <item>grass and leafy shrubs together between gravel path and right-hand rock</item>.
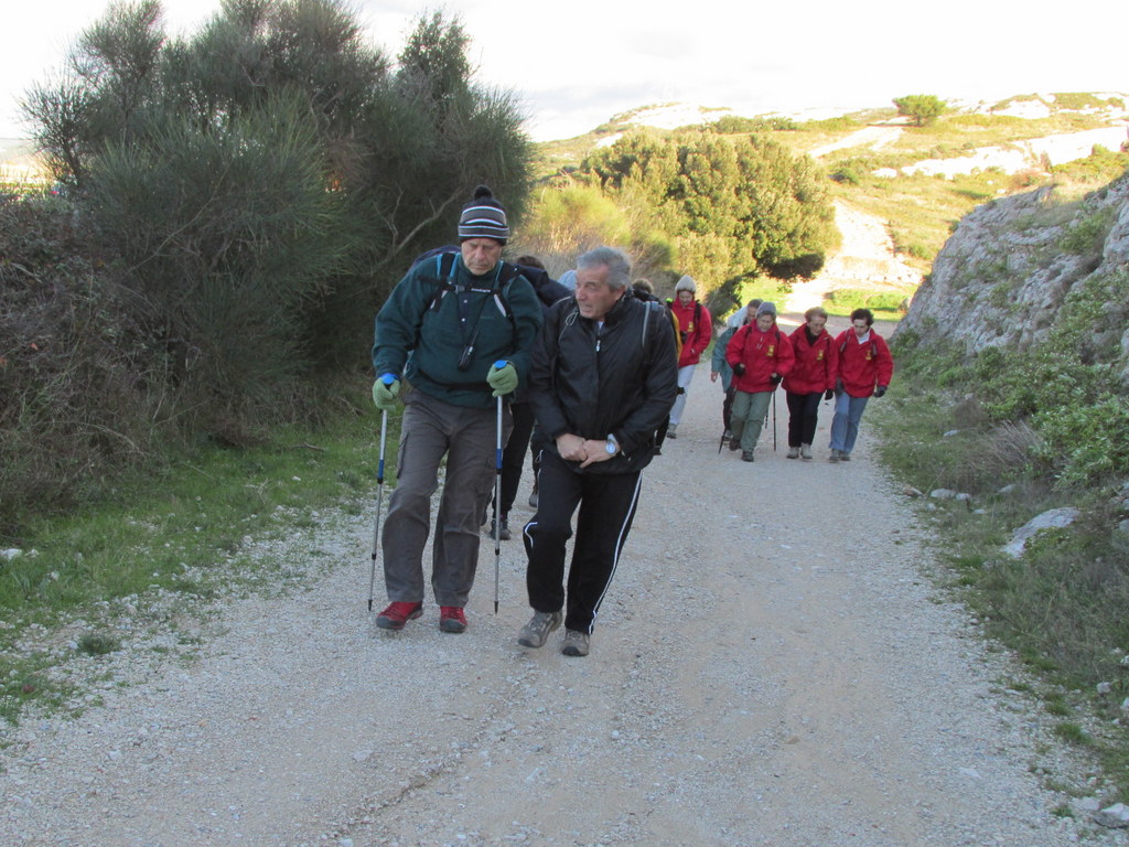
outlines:
[[[1129, 400], [1112, 361], [1126, 303], [1129, 271], [1092, 280], [1067, 299], [1048, 338], [1022, 352], [969, 358], [903, 333], [893, 346], [899, 378], [877, 417], [883, 460], [900, 479], [926, 497], [971, 495], [924, 500], [943, 579], [1036, 680], [1007, 684], [1033, 689], [1059, 736], [1101, 762], [1111, 780], [1104, 793], [1122, 802]], [[1115, 331], [1095, 333], [1095, 315]], [[1058, 507], [1080, 517], [1036, 535], [1021, 559], [1003, 551], [1016, 527]]]

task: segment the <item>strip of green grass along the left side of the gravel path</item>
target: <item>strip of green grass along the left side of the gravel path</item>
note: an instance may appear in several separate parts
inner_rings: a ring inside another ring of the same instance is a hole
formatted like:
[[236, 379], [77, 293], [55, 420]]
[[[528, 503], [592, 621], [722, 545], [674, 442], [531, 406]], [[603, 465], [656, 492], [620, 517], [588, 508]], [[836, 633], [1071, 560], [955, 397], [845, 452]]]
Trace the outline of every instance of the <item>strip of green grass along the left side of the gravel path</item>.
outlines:
[[[397, 438], [399, 416], [390, 417], [386, 478], [394, 478]], [[240, 585], [285, 587], [286, 566], [252, 562], [245, 539], [312, 530], [320, 507], [364, 509], [378, 448], [379, 418], [366, 411], [279, 429], [250, 449], [205, 446], [73, 514], [25, 521], [23, 536], [3, 542], [25, 553], [0, 568], [0, 619], [8, 623], [0, 629], [0, 717], [15, 722], [29, 707], [68, 700], [51, 669], [73, 655], [59, 648], [70, 621], [88, 623], [75, 644], [96, 657], [126, 646], [114, 626], [113, 610], [123, 605], [137, 613], [147, 597], [174, 595], [174, 605], [199, 609]], [[175, 621], [165, 623], [175, 630]]]

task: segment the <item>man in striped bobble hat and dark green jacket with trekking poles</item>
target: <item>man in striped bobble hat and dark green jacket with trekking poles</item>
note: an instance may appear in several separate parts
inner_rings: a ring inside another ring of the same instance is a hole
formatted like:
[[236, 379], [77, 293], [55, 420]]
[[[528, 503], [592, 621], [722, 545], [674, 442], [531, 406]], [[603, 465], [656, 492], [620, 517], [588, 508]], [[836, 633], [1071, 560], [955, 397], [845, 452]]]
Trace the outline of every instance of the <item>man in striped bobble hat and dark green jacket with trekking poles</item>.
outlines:
[[[466, 629], [464, 608], [479, 561], [479, 522], [490, 503], [498, 434], [497, 398], [510, 400], [530, 369], [541, 305], [517, 265], [501, 261], [506, 210], [479, 186], [458, 218], [460, 252], [414, 264], [376, 316], [373, 401], [404, 417], [396, 488], [382, 527], [390, 605], [382, 629], [423, 613], [423, 549], [439, 465], [446, 474], [435, 518], [431, 590], [439, 629]], [[506, 404], [502, 442], [511, 416]]]

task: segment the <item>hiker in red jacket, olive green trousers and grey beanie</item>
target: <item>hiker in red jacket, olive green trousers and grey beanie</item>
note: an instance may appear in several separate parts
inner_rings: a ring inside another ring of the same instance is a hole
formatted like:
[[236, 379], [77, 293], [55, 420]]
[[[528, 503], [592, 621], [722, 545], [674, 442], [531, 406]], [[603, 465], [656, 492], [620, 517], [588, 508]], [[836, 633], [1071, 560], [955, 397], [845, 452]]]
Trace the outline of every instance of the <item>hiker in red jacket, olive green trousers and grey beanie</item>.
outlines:
[[756, 321], [742, 326], [730, 339], [725, 360], [733, 368], [737, 396], [733, 401], [729, 449], [739, 449], [742, 461], [753, 461], [769, 402], [780, 379], [791, 370], [794, 359], [791, 342], [776, 325], [772, 303], [762, 303]]

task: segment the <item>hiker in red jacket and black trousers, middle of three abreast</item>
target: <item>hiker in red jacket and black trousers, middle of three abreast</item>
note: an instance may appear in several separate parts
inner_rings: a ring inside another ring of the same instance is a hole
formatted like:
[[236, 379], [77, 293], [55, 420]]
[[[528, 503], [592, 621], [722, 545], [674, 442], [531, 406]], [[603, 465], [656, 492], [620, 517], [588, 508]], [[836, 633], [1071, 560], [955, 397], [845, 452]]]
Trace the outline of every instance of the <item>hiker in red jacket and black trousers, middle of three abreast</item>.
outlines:
[[809, 460], [820, 400], [831, 400], [834, 393], [839, 347], [824, 329], [828, 313], [822, 308], [807, 309], [804, 321], [788, 337], [796, 364], [784, 378], [784, 390], [788, 398], [788, 459]]

